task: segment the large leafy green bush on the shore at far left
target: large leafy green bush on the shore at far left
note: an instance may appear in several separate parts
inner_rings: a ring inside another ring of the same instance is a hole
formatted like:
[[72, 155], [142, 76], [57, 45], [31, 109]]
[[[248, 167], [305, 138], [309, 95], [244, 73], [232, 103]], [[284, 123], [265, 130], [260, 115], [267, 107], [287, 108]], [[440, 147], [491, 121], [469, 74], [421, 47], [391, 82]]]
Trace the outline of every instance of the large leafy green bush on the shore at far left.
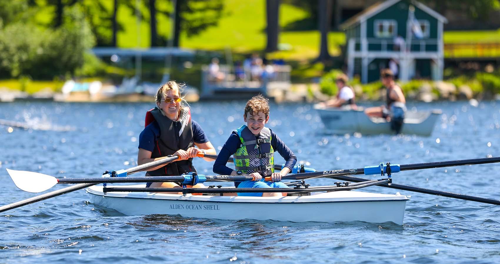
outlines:
[[85, 63], [84, 52], [95, 40], [78, 6], [68, 8], [64, 17], [57, 29], [40, 30], [23, 22], [0, 29], [0, 74], [4, 75], [1, 77], [26, 75], [52, 79], [74, 74], [81, 68]]

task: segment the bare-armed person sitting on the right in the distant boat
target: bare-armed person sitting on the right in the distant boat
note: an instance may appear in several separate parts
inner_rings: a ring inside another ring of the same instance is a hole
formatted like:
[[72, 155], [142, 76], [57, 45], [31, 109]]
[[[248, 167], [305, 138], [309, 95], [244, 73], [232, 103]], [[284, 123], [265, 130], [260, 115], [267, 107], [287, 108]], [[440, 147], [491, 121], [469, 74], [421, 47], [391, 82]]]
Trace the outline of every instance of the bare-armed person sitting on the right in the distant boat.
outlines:
[[404, 99], [401, 88], [394, 82], [394, 74], [390, 69], [383, 69], [380, 72], [380, 79], [383, 86], [386, 88], [386, 104], [366, 108], [364, 113], [370, 117], [386, 118], [388, 121], [391, 121], [393, 130], [399, 133], [400, 126], [404, 119], [404, 112], [406, 111], [406, 99]]

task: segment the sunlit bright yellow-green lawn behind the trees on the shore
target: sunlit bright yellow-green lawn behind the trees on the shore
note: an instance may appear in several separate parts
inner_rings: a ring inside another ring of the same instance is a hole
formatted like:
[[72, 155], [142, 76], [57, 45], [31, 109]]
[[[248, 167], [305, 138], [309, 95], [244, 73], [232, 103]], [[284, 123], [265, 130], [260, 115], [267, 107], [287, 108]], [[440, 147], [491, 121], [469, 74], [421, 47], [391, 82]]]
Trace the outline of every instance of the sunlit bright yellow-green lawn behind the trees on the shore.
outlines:
[[[82, 2], [87, 6], [95, 4], [91, 0], [82, 0]], [[112, 1], [104, 1], [102, 4], [110, 12]], [[140, 28], [137, 28], [135, 11], [124, 4], [118, 6], [117, 19], [122, 25], [122, 30], [117, 34], [119, 47], [149, 46], [149, 13], [146, 4], [142, 4], [140, 8], [143, 17], [140, 19]], [[171, 2], [156, 1], [156, 8], [158, 10], [171, 10]], [[287, 3], [281, 3], [279, 11], [279, 24], [282, 27], [293, 21], [304, 19], [309, 15], [306, 10]], [[230, 48], [232, 52], [239, 54], [260, 52], [265, 48], [265, 0], [224, 0], [224, 10], [222, 13], [223, 15], [220, 17], [217, 26], [209, 27], [198, 35], [188, 37], [185, 32], [181, 32], [181, 47], [218, 51]], [[41, 24], [48, 24], [52, 15], [53, 6], [42, 8], [36, 14], [35, 20]], [[93, 19], [102, 18], [95, 16]], [[98, 20], [94, 22], [99, 23]], [[158, 34], [168, 37], [170, 29], [169, 17], [158, 13]], [[140, 37], [137, 37], [137, 35], [140, 35]], [[343, 32], [330, 32], [328, 40], [330, 54], [333, 56], [339, 55], [339, 46], [345, 43]], [[281, 31], [278, 41], [281, 43], [281, 46], [286, 47], [285, 50], [269, 53], [267, 54], [269, 58], [306, 61], [318, 55], [318, 30]], [[500, 43], [500, 30], [444, 32], [444, 43], [446, 44], [470, 41]], [[461, 52], [470, 53], [468, 48], [465, 47], [462, 48]], [[486, 50], [484, 54], [491, 54], [487, 52]], [[453, 54], [447, 52], [445, 56], [456, 56], [460, 53], [459, 51], [455, 51]], [[478, 54], [478, 56], [481, 56], [481, 54]]]

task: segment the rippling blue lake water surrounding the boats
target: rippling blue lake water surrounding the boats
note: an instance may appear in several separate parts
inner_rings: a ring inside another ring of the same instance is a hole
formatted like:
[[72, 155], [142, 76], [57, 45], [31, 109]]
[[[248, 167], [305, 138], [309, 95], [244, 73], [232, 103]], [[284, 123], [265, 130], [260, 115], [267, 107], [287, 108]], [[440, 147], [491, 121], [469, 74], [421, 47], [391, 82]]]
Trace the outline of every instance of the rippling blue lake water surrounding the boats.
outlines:
[[[18, 190], [5, 168], [74, 178], [135, 166], [144, 114], [152, 106], [0, 104], [0, 119], [74, 128], [58, 132], [0, 125], [0, 205], [34, 196]], [[193, 103], [192, 116], [217, 148], [242, 124], [243, 106], [244, 102]], [[500, 156], [500, 102], [408, 106], [442, 109], [430, 137], [329, 135], [310, 104], [272, 104], [268, 126], [300, 163], [316, 170]], [[194, 164], [199, 173], [212, 174], [212, 163], [197, 159]], [[426, 169], [394, 174], [393, 181], [499, 200], [499, 171], [500, 164]], [[62, 187], [51, 190], [58, 188]], [[382, 187], [366, 191], [397, 192]], [[499, 206], [400, 193], [411, 199], [403, 226], [124, 216], [87, 202], [87, 194], [79, 190], [0, 213], [0, 263], [500, 262]]]

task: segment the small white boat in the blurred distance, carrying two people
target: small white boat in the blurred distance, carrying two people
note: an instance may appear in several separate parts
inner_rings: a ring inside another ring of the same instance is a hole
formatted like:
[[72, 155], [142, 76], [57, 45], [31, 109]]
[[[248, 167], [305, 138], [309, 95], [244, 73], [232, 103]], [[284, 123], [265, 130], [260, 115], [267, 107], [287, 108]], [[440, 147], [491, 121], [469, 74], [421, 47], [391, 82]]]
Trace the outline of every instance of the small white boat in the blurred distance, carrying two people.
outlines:
[[[356, 110], [350, 108], [324, 108], [314, 105], [321, 121], [328, 132], [333, 134], [351, 134], [359, 132], [364, 135], [394, 134], [390, 122], [384, 118], [368, 117], [362, 107]], [[404, 115], [402, 134], [430, 136], [441, 110], [406, 111]]]

